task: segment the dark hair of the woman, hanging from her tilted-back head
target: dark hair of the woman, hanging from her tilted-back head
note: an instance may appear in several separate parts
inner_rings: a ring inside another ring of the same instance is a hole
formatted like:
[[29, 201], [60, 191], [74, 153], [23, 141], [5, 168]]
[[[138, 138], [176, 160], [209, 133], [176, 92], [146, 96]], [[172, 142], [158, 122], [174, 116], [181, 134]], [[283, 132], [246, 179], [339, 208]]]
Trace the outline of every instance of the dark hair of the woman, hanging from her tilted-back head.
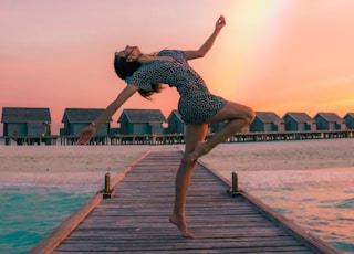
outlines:
[[[142, 64], [138, 61], [127, 62], [125, 57], [115, 55], [114, 70], [118, 77], [125, 81], [126, 77], [133, 75]], [[152, 91], [138, 89], [139, 94], [147, 99], [152, 99], [154, 93], [159, 93], [163, 89], [162, 84], [152, 84]]]

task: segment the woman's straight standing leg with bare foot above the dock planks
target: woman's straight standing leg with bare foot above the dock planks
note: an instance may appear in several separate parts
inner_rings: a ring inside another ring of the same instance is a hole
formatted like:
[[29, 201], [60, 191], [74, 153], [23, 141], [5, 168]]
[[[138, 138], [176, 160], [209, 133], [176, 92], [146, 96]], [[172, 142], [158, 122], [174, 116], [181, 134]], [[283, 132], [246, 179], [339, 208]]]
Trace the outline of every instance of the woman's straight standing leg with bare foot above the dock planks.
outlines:
[[205, 140], [207, 130], [207, 124], [186, 125], [185, 155], [180, 161], [179, 169], [177, 171], [175, 187], [175, 207], [173, 214], [169, 216], [169, 222], [178, 226], [181, 235], [190, 239], [194, 237], [194, 234], [191, 234], [187, 229], [186, 199], [191, 178], [191, 172], [196, 161], [186, 160], [185, 157], [196, 149], [197, 144]]

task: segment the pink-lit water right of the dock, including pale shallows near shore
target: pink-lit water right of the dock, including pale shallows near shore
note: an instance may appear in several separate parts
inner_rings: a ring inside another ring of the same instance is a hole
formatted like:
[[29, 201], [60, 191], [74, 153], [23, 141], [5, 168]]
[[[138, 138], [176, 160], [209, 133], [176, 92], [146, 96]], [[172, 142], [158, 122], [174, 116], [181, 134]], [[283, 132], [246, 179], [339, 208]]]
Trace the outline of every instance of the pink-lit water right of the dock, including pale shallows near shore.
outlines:
[[239, 173], [243, 190], [343, 253], [354, 253], [354, 168]]

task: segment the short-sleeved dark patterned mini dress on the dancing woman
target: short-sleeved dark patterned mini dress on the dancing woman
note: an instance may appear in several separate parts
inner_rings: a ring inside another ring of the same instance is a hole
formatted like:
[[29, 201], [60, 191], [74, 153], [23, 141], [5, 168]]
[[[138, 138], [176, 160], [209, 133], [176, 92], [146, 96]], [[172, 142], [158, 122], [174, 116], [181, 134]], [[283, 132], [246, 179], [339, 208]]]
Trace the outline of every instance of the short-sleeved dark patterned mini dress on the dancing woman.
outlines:
[[163, 50], [157, 55], [170, 56], [175, 61], [155, 60], [143, 64], [127, 80], [128, 85], [143, 91], [152, 91], [152, 84], [176, 87], [180, 95], [178, 112], [186, 124], [206, 123], [225, 107], [227, 100], [209, 93], [204, 80], [189, 66], [183, 51]]

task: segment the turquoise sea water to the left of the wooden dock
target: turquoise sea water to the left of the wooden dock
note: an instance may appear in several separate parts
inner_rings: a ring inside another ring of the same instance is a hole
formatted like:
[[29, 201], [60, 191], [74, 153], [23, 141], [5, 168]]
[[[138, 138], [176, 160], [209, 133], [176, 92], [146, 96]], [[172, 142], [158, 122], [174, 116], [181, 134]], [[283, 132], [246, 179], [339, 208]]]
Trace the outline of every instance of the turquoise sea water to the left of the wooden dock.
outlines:
[[93, 194], [87, 188], [0, 184], [0, 253], [28, 253]]

